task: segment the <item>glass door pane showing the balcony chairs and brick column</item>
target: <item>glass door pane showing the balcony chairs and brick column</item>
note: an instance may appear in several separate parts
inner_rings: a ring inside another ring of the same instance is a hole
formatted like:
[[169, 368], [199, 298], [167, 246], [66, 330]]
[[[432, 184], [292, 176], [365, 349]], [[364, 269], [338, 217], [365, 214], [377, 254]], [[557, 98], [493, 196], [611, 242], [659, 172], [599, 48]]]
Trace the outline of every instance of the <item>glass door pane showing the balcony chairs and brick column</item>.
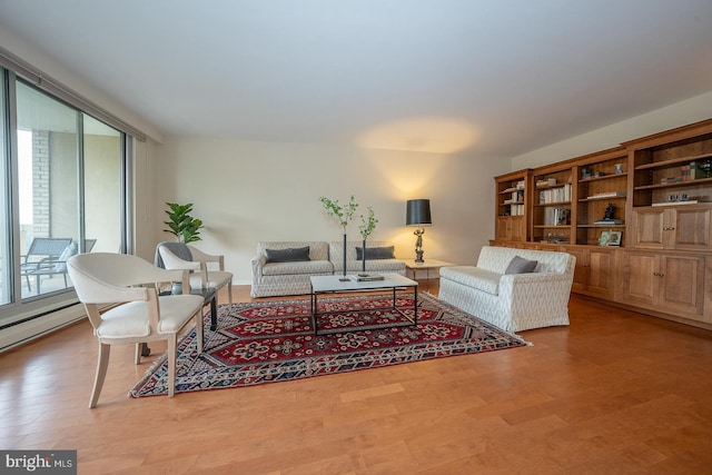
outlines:
[[80, 112], [18, 82], [17, 140], [22, 298], [71, 285], [79, 239]]

